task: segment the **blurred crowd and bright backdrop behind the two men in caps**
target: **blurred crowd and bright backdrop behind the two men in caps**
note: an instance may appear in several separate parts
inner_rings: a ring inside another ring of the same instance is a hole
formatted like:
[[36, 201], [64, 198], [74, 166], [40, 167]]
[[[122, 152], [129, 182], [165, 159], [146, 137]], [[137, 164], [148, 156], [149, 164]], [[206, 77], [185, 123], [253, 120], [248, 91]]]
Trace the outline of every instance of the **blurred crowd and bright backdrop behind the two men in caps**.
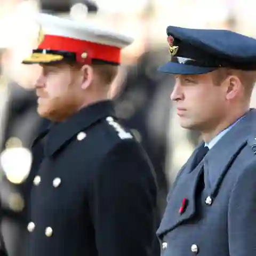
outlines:
[[[135, 39], [123, 51], [110, 96], [119, 118], [133, 130], [154, 164], [160, 219], [175, 175], [200, 140], [177, 122], [170, 101], [173, 77], [156, 71], [169, 60], [166, 27], [230, 29], [255, 37], [256, 2], [0, 0], [0, 6], [0, 219], [9, 256], [22, 256], [26, 203], [35, 176], [30, 173], [31, 143], [47, 125], [36, 113], [31, 90], [37, 67], [21, 65], [37, 37], [31, 19], [38, 12], [93, 23]], [[256, 105], [255, 91], [251, 105]], [[33, 155], [39, 159], [42, 148], [36, 150]]]

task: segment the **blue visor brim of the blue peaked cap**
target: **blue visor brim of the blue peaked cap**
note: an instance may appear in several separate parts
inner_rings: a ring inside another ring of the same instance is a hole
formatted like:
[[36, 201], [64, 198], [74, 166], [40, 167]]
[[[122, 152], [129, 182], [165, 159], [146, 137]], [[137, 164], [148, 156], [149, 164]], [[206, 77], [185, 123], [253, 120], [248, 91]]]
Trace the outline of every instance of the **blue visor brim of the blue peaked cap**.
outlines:
[[175, 62], [167, 62], [165, 65], [159, 67], [157, 70], [161, 73], [169, 73], [175, 75], [200, 75], [209, 73], [217, 69], [216, 67], [197, 67], [192, 65], [185, 65]]

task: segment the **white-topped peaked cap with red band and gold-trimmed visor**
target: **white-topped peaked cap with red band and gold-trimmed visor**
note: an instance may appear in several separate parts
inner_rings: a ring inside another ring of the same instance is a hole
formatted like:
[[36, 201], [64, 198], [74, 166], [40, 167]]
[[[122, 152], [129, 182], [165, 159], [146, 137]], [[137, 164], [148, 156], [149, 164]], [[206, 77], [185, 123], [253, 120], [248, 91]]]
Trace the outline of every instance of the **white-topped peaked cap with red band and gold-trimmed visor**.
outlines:
[[35, 19], [41, 28], [38, 47], [23, 63], [47, 63], [63, 59], [90, 63], [97, 59], [119, 64], [121, 49], [133, 42], [130, 37], [86, 24], [86, 21], [44, 13], [38, 14]]

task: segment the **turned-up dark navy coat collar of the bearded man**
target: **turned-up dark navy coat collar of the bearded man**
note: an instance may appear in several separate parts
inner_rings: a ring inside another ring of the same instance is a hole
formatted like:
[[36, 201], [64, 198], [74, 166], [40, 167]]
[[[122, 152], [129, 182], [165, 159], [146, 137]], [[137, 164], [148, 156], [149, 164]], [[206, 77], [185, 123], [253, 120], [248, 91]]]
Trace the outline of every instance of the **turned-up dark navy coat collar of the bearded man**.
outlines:
[[113, 102], [110, 100], [93, 103], [61, 123], [49, 127], [45, 143], [45, 155], [52, 156], [79, 131], [85, 130], [100, 119], [115, 116]]

